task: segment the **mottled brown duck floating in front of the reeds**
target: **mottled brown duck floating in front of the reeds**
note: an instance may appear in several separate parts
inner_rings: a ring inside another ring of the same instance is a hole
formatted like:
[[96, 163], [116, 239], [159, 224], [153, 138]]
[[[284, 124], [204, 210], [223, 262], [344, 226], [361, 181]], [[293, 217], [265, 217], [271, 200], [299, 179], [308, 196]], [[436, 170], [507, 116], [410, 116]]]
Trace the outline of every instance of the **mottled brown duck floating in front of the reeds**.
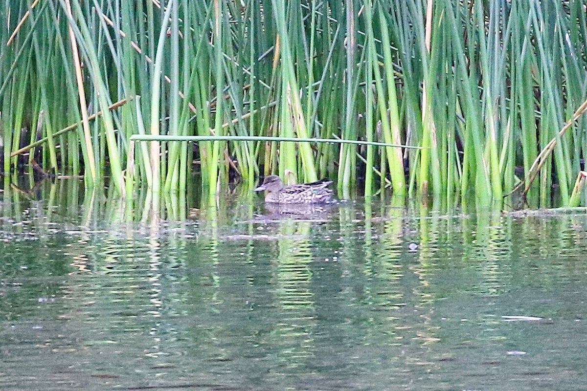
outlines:
[[279, 176], [268, 175], [265, 176], [263, 184], [253, 191], [265, 191], [265, 202], [268, 203], [330, 203], [332, 190], [326, 188], [330, 183], [332, 181], [328, 179], [321, 179], [312, 183], [285, 186]]

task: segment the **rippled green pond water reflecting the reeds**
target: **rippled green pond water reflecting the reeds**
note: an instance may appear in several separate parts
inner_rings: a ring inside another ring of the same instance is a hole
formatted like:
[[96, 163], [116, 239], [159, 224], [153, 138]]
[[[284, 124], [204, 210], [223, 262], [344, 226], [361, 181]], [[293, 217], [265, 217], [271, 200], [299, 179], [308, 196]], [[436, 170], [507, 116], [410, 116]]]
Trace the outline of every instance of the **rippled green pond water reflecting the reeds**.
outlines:
[[243, 192], [159, 221], [76, 183], [0, 193], [3, 390], [587, 383], [585, 215]]

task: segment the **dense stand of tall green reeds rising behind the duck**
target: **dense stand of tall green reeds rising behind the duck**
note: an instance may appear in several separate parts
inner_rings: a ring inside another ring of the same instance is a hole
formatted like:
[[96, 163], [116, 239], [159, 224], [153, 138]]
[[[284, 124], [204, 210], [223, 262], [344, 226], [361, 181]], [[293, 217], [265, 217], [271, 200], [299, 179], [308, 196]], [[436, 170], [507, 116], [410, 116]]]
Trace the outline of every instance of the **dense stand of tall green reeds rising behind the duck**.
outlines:
[[185, 191], [195, 161], [211, 202], [288, 172], [345, 195], [487, 205], [522, 181], [531, 206], [585, 203], [586, 0], [29, 3], [0, 9], [6, 173], [35, 159], [132, 198]]

